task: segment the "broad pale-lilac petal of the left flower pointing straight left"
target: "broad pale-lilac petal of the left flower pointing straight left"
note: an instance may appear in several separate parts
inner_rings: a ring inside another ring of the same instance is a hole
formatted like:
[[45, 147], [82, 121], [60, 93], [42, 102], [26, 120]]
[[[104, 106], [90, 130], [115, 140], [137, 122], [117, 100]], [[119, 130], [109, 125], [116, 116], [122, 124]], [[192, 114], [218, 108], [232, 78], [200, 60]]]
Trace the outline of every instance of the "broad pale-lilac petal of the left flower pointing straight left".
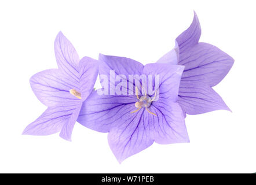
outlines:
[[70, 94], [70, 89], [79, 90], [79, 87], [68, 81], [59, 69], [36, 73], [31, 77], [30, 84], [36, 97], [46, 106], [68, 105], [79, 101]]

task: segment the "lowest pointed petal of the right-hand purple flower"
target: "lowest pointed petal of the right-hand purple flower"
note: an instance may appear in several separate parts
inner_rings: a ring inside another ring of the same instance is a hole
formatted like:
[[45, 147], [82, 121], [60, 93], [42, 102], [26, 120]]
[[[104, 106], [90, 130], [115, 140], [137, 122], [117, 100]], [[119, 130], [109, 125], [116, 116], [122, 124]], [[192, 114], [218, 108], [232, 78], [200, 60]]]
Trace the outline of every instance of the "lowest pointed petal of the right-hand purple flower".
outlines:
[[202, 114], [221, 109], [230, 110], [213, 88], [198, 82], [181, 82], [177, 102], [187, 114]]

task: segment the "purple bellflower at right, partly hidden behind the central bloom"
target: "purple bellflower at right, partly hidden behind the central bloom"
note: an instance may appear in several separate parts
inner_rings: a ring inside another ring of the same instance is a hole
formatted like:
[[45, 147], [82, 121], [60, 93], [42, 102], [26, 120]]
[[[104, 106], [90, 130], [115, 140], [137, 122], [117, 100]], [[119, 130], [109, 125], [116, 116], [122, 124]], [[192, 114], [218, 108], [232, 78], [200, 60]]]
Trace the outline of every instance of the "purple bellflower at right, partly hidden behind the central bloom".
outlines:
[[186, 31], [175, 40], [175, 47], [158, 62], [184, 65], [177, 102], [184, 115], [213, 110], [230, 110], [213, 86], [221, 82], [233, 65], [233, 58], [215, 46], [198, 42], [201, 28], [196, 13]]

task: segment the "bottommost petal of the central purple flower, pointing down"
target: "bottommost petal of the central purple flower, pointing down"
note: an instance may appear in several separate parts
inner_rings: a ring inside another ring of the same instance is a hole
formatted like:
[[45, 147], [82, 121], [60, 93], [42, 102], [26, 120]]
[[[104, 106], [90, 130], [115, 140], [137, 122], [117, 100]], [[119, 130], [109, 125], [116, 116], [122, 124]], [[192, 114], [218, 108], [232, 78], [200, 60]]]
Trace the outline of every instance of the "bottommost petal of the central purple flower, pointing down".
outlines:
[[130, 115], [130, 119], [122, 121], [109, 132], [108, 143], [119, 162], [153, 144], [144, 112], [145, 109]]

